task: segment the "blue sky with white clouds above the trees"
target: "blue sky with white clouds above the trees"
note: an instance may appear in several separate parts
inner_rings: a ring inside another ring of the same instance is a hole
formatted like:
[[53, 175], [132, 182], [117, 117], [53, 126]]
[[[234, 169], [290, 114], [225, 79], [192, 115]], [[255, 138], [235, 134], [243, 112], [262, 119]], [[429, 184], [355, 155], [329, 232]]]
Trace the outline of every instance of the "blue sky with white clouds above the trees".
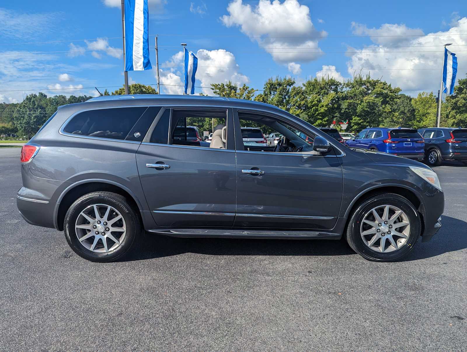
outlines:
[[[123, 83], [120, 0], [8, 2], [0, 23], [0, 101], [44, 88], [95, 95], [89, 87]], [[154, 68], [156, 34], [162, 93], [181, 92], [182, 42], [199, 58], [196, 86], [232, 80], [262, 89], [269, 77], [300, 84], [362, 70], [416, 95], [438, 89], [444, 43], [454, 44], [458, 78], [467, 72], [465, 1], [149, 0]], [[155, 74], [130, 72], [130, 82], [155, 84]]]

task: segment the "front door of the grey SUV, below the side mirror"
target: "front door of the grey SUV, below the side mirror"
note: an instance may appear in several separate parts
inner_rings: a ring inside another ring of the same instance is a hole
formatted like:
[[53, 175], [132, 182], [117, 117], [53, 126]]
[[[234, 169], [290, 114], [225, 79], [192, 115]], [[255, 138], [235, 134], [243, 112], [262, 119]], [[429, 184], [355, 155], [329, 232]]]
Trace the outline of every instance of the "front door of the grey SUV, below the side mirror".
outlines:
[[[255, 124], [262, 130], [281, 129], [277, 132], [290, 139], [301, 138], [297, 132], [311, 138], [315, 136], [310, 131], [284, 127], [287, 124], [284, 120], [278, 125], [273, 122], [276, 118], [279, 116], [238, 111], [235, 127]], [[262, 126], [263, 122], [266, 126]], [[323, 156], [313, 152], [251, 151], [248, 146], [243, 146], [237, 133], [235, 141], [235, 227], [333, 229], [342, 201], [342, 168], [335, 154]], [[303, 144], [308, 143], [303, 139]], [[306, 148], [310, 149], [311, 145]]]

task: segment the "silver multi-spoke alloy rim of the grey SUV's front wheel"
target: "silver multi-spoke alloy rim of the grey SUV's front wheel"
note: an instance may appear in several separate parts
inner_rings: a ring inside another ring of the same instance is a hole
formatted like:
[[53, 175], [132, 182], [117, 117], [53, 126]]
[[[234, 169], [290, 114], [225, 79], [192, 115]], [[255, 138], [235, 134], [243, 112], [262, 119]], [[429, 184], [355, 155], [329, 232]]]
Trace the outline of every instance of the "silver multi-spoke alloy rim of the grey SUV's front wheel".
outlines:
[[409, 238], [409, 217], [393, 205], [380, 205], [365, 214], [361, 221], [360, 234], [363, 243], [373, 251], [396, 251]]

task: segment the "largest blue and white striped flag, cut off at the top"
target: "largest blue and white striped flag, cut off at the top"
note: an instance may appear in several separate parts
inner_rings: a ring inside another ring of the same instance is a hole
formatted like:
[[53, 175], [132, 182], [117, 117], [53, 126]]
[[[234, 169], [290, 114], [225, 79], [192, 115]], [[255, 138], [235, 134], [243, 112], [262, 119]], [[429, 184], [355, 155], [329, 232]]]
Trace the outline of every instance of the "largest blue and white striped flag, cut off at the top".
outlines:
[[125, 0], [125, 71], [152, 69], [148, 17], [148, 0]]

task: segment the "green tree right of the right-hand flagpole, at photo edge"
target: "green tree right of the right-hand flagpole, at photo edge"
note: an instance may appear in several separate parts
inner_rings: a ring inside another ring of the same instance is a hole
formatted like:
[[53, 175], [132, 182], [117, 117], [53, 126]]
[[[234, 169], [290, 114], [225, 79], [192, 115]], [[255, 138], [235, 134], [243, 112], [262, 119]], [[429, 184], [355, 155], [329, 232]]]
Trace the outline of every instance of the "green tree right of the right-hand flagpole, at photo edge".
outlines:
[[[441, 114], [443, 115], [443, 114]], [[454, 94], [446, 97], [446, 127], [467, 127], [467, 79], [459, 79]]]

